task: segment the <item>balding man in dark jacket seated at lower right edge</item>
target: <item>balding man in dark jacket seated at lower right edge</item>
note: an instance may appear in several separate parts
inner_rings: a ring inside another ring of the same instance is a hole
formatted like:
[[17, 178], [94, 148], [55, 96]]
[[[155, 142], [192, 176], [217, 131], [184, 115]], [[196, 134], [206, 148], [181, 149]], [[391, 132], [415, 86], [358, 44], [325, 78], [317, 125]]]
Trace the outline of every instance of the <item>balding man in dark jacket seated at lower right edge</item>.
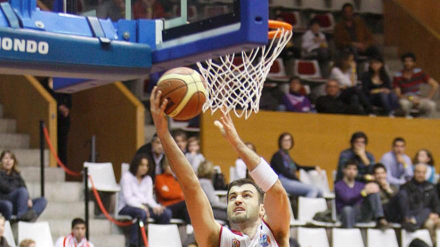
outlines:
[[426, 228], [435, 240], [435, 230], [440, 227], [440, 202], [434, 185], [425, 180], [425, 173], [425, 164], [415, 165], [414, 177], [400, 188], [398, 205], [403, 229], [413, 232]]

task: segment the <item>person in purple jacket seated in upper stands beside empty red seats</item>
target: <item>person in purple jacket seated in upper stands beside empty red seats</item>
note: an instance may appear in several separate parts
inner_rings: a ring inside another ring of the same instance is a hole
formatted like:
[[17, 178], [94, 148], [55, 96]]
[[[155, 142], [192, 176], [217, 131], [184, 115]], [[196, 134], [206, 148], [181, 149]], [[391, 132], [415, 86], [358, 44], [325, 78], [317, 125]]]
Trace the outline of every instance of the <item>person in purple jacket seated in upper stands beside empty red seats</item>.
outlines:
[[292, 112], [310, 112], [310, 100], [305, 94], [299, 77], [292, 77], [290, 79], [289, 92], [282, 97], [285, 110]]

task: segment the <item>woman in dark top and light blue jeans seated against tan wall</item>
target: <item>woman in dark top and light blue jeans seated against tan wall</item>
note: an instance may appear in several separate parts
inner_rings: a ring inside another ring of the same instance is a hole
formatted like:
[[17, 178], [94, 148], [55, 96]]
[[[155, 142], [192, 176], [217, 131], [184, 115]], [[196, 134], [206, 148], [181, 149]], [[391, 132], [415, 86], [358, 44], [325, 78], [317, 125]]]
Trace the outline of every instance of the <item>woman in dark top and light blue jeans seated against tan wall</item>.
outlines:
[[305, 197], [321, 197], [322, 191], [313, 186], [303, 184], [298, 181], [296, 171], [303, 169], [305, 171], [316, 170], [321, 173], [319, 166], [301, 166], [297, 164], [289, 155], [289, 150], [293, 148], [293, 137], [290, 133], [284, 132], [278, 138], [279, 150], [273, 154], [270, 160], [270, 166], [273, 171], [279, 176], [279, 181], [284, 187], [285, 191], [290, 195], [305, 196]]

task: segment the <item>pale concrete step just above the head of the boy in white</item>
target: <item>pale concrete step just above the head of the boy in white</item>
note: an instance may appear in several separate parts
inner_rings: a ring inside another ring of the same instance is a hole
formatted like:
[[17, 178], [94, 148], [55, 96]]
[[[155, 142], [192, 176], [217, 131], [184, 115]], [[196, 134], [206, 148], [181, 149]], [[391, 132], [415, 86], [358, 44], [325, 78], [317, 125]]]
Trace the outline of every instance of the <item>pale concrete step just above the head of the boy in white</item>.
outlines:
[[[66, 196], [66, 195], [64, 195]], [[48, 219], [74, 219], [83, 218], [85, 214], [83, 202], [56, 202], [48, 201], [46, 209], [38, 218], [40, 221]], [[93, 216], [93, 202], [88, 203], [89, 216]]]

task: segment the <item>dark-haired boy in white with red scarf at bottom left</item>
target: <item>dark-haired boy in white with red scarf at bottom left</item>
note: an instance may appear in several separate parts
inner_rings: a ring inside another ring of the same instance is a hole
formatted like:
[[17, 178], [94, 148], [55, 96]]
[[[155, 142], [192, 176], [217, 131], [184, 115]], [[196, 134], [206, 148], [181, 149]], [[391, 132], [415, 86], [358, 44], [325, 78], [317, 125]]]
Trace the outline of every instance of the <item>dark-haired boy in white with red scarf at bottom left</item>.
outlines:
[[72, 221], [72, 232], [56, 240], [54, 247], [94, 247], [91, 242], [85, 238], [85, 221], [81, 218], [75, 218]]

